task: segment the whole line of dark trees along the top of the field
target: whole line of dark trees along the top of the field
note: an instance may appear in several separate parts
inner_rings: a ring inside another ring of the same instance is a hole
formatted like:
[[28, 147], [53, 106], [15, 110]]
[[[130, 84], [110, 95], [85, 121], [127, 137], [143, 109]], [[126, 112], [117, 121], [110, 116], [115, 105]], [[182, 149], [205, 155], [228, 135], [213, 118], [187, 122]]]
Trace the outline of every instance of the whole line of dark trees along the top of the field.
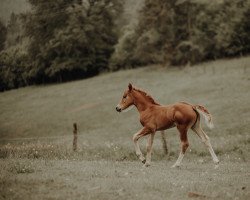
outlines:
[[250, 52], [250, 0], [145, 0], [130, 28], [124, 0], [28, 2], [31, 11], [0, 23], [0, 91]]

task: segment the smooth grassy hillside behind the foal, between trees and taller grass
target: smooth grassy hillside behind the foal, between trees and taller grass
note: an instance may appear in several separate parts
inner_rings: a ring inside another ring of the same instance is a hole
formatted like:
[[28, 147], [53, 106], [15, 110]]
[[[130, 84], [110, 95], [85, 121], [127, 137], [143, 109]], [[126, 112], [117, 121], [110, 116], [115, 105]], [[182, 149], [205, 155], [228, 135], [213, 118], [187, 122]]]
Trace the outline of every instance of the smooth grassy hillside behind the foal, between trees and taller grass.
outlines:
[[[4, 92], [0, 94], [0, 138], [2, 143], [43, 137], [65, 141], [71, 139], [72, 124], [77, 122], [83, 143], [112, 142], [130, 148], [133, 133], [141, 127], [138, 113], [133, 109], [120, 114], [115, 106], [131, 82], [162, 104], [187, 101], [206, 106], [214, 116], [215, 128], [207, 132], [215, 149], [245, 151], [250, 141], [249, 63], [247, 57], [184, 70], [149, 66]], [[168, 133], [171, 144], [177, 146], [176, 130]], [[199, 140], [192, 132], [189, 135], [192, 148]]]

